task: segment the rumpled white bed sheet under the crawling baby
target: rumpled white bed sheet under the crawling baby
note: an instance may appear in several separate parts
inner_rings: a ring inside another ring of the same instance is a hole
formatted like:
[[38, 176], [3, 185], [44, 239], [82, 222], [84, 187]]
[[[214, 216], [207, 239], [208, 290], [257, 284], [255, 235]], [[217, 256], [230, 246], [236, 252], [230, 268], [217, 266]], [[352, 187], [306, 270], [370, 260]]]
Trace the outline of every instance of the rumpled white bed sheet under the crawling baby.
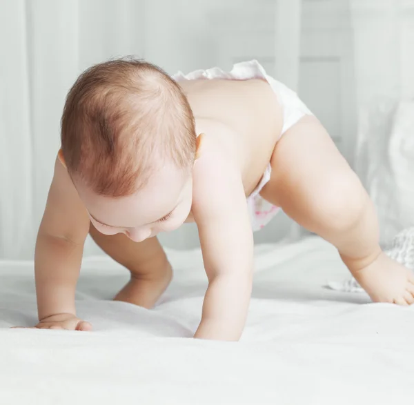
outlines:
[[395, 404], [414, 399], [414, 306], [323, 288], [348, 277], [310, 237], [256, 248], [240, 342], [187, 339], [206, 289], [199, 250], [168, 251], [175, 279], [154, 310], [111, 302], [128, 275], [83, 262], [79, 316], [92, 333], [36, 322], [32, 263], [0, 263], [0, 404]]

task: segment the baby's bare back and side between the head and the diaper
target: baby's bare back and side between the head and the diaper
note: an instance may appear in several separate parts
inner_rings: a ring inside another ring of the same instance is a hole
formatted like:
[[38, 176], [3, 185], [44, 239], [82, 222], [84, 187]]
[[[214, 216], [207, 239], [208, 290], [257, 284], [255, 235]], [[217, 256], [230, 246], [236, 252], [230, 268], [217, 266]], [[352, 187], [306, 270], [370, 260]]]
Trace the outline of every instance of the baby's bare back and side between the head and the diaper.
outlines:
[[235, 153], [249, 195], [282, 132], [282, 108], [275, 92], [262, 79], [197, 79], [179, 85], [190, 102], [197, 133], [218, 137]]

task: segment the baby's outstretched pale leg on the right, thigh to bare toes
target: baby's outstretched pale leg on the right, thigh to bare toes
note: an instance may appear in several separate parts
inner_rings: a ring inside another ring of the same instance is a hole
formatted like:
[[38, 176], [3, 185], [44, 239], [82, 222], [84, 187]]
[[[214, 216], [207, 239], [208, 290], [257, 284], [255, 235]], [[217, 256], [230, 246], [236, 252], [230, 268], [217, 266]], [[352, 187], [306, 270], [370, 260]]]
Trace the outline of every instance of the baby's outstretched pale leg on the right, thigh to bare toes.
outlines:
[[306, 116], [286, 131], [261, 195], [330, 241], [375, 302], [414, 302], [414, 275], [379, 245], [374, 206], [324, 127]]

